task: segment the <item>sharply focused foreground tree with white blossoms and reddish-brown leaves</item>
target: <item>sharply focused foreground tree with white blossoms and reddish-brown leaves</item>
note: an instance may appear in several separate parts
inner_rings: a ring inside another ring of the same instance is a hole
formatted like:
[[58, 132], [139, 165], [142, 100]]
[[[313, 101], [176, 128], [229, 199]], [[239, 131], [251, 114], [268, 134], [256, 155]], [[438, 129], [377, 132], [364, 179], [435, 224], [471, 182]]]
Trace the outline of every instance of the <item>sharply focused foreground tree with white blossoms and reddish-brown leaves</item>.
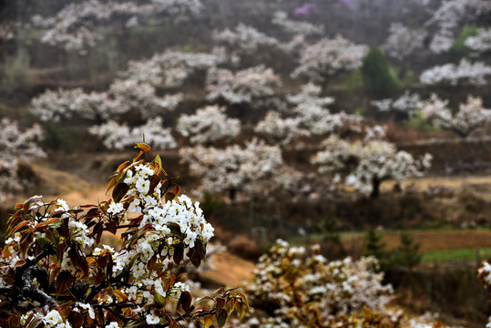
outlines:
[[[0, 258], [1, 326], [221, 327], [234, 309], [246, 310], [240, 292], [193, 300], [179, 281], [179, 268], [206, 259], [213, 228], [159, 156], [137, 147], [110, 180], [107, 201], [70, 208], [33, 196], [15, 206]], [[120, 236], [118, 246], [101, 244], [103, 233]]]

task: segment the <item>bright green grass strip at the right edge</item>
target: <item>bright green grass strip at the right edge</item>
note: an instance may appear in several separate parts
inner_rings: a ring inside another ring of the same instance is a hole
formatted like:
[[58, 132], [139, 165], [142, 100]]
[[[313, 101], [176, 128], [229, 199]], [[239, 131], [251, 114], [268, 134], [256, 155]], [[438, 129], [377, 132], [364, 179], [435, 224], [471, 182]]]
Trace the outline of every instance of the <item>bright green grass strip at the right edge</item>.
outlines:
[[444, 263], [448, 261], [476, 262], [485, 259], [491, 259], [491, 247], [480, 249], [467, 248], [457, 250], [425, 251], [423, 252], [422, 263], [431, 264]]

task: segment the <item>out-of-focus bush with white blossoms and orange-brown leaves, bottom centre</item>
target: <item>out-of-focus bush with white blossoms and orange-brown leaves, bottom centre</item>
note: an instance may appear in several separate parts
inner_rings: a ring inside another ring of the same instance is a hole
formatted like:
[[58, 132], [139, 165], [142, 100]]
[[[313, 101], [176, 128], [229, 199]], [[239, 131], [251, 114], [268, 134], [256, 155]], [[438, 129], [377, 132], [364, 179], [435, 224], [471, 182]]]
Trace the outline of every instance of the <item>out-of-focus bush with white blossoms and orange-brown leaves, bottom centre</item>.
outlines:
[[393, 290], [382, 284], [383, 273], [374, 272], [376, 267], [373, 257], [327, 261], [318, 245], [307, 250], [276, 241], [261, 256], [248, 286], [252, 306], [270, 310], [248, 323], [254, 327], [344, 326], [341, 314], [353, 315], [365, 306], [382, 313]]

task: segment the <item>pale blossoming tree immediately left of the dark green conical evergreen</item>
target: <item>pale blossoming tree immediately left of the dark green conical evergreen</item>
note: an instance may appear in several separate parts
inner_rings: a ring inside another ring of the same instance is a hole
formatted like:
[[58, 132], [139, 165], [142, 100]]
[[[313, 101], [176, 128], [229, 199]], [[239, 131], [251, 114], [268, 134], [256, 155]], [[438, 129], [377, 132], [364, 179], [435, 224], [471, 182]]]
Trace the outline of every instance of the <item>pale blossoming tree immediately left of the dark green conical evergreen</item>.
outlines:
[[367, 51], [367, 46], [355, 45], [343, 36], [322, 38], [302, 50], [300, 65], [292, 72], [292, 77], [307, 77], [313, 82], [324, 82], [339, 72], [361, 67]]

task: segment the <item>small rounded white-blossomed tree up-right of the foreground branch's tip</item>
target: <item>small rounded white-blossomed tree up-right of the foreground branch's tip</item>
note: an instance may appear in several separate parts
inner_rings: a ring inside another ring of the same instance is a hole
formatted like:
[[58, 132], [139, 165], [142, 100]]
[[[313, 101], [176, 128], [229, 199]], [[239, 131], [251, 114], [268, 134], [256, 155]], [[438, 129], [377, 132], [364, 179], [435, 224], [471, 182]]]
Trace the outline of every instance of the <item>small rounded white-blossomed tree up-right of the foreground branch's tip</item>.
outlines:
[[240, 133], [240, 120], [228, 118], [225, 108], [207, 106], [194, 115], [183, 114], [176, 129], [192, 144], [208, 144], [222, 138], [235, 138]]

